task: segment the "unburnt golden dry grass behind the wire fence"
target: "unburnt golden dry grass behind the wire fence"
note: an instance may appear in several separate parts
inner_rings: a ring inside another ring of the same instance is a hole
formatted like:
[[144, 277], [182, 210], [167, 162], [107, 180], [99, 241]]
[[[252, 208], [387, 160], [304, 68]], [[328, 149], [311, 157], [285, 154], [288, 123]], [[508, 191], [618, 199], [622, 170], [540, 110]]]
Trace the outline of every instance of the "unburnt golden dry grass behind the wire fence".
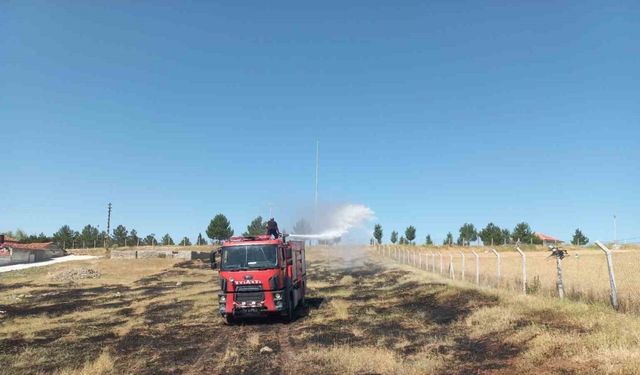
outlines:
[[[480, 262], [480, 284], [499, 287], [520, 292], [522, 290], [522, 260], [513, 247], [496, 247], [501, 256], [501, 277], [497, 277], [496, 256], [487, 247], [458, 248], [458, 247], [420, 247], [405, 246], [399, 249], [409, 251], [408, 262], [417, 267], [433, 268], [435, 254], [436, 272], [440, 272], [440, 256], [443, 254], [444, 275], [449, 276], [449, 263], [453, 259], [455, 278], [475, 282], [475, 250]], [[568, 247], [569, 256], [562, 261], [563, 279], [568, 298], [610, 305], [610, 284], [607, 272], [607, 262], [604, 253], [596, 248]], [[523, 247], [527, 264], [527, 290], [530, 294], [557, 296], [556, 264], [554, 258], [549, 258], [549, 252], [538, 246]], [[464, 275], [462, 255], [464, 253]], [[393, 254], [393, 252], [392, 252]], [[415, 254], [415, 262], [414, 262]], [[449, 257], [452, 256], [452, 258]], [[406, 258], [399, 256], [399, 260], [406, 263]], [[640, 249], [627, 247], [613, 251], [613, 264], [620, 311], [640, 312]]]

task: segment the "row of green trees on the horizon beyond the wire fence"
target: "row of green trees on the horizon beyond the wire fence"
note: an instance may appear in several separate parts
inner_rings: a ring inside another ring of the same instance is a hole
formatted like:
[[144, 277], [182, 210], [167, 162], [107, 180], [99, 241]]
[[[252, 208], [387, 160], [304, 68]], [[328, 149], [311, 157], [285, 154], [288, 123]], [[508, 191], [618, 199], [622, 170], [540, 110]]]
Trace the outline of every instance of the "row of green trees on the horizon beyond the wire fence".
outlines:
[[[373, 238], [371, 243], [382, 243], [383, 238], [382, 225], [376, 224], [373, 229]], [[413, 225], [408, 226], [404, 235], [398, 238], [399, 233], [396, 230], [391, 231], [389, 241], [392, 244], [400, 245], [415, 245], [416, 228]], [[535, 235], [531, 230], [531, 226], [526, 223], [518, 223], [513, 230], [507, 228], [500, 228], [494, 223], [487, 224], [482, 230], [478, 231], [476, 227], [471, 223], [464, 223], [458, 230], [458, 238], [454, 240], [454, 236], [451, 232], [447, 233], [443, 245], [453, 246], [469, 246], [472, 242], [481, 240], [484, 245], [507, 245], [513, 243], [523, 244], [542, 244], [542, 240]], [[571, 239], [573, 245], [586, 245], [589, 243], [589, 238], [582, 233], [578, 228], [575, 230]], [[425, 237], [425, 245], [433, 245], [431, 235], [427, 234]]]

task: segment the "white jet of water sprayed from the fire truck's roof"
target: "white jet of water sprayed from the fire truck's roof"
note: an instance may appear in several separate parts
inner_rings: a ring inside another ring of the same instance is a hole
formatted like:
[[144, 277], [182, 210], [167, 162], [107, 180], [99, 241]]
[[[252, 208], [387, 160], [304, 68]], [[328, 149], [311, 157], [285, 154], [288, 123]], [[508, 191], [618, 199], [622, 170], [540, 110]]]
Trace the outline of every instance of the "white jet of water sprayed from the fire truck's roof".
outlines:
[[314, 234], [292, 234], [291, 238], [308, 240], [332, 240], [349, 233], [353, 228], [364, 225], [372, 220], [375, 213], [369, 207], [362, 204], [345, 204], [324, 212], [317, 220], [320, 229]]

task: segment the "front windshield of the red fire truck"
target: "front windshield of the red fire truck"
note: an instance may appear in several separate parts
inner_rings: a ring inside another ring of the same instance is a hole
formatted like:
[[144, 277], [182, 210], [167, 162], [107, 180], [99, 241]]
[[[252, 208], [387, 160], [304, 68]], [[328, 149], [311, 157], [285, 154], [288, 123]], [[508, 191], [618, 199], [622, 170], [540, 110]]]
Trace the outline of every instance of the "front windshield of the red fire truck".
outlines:
[[272, 268], [278, 265], [275, 245], [238, 245], [222, 248], [223, 270]]

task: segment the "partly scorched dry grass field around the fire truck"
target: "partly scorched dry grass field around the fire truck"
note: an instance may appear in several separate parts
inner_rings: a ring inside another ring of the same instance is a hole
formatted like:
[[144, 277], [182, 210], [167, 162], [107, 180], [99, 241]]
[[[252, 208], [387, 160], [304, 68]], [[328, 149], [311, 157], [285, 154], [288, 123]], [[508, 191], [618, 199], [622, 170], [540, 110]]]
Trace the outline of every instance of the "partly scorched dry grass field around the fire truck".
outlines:
[[[217, 274], [202, 262], [99, 259], [4, 273], [0, 366], [4, 374], [640, 372], [633, 315], [478, 290], [358, 249], [314, 248], [308, 263], [308, 304], [294, 323], [235, 326], [216, 315]], [[265, 346], [272, 351], [261, 353]]]

